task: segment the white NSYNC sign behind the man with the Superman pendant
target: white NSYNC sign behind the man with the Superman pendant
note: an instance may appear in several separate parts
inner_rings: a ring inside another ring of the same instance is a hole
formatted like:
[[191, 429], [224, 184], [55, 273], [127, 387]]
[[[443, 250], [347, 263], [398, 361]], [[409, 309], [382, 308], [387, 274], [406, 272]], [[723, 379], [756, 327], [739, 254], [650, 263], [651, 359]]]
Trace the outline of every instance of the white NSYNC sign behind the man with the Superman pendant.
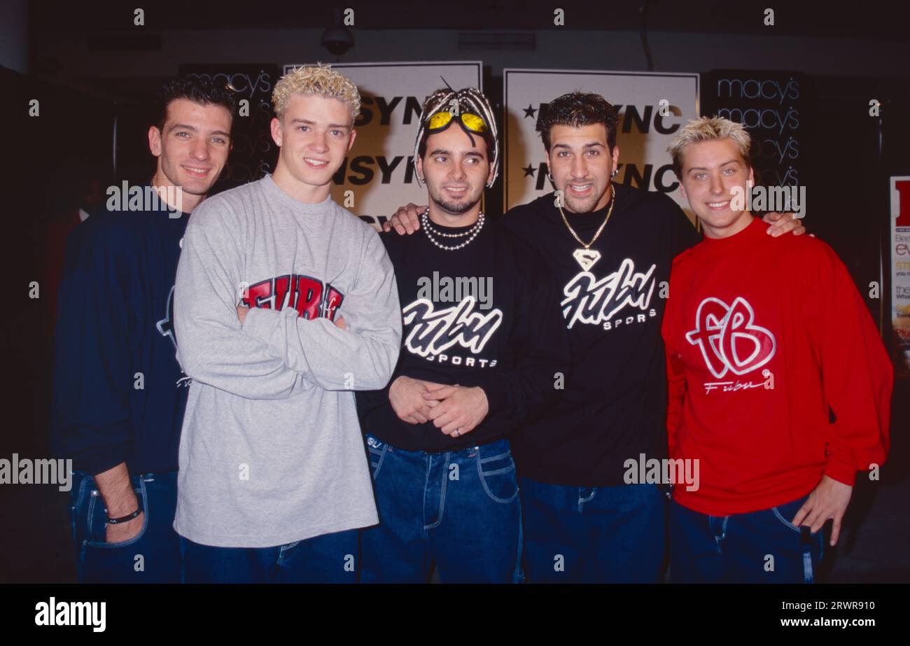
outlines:
[[697, 74], [503, 70], [505, 208], [553, 190], [538, 124], [552, 99], [578, 90], [602, 95], [620, 110], [620, 166], [613, 181], [666, 193], [688, 212], [667, 146], [698, 116], [698, 80]]

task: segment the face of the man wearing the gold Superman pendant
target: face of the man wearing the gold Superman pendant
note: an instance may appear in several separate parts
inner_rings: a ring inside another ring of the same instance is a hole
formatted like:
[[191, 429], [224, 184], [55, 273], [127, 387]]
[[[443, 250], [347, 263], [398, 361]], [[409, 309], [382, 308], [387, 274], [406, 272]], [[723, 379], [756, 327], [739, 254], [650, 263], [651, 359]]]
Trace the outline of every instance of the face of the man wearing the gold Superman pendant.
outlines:
[[547, 164], [553, 184], [573, 213], [591, 213], [610, 202], [610, 174], [619, 163], [619, 146], [607, 146], [607, 128], [552, 126]]

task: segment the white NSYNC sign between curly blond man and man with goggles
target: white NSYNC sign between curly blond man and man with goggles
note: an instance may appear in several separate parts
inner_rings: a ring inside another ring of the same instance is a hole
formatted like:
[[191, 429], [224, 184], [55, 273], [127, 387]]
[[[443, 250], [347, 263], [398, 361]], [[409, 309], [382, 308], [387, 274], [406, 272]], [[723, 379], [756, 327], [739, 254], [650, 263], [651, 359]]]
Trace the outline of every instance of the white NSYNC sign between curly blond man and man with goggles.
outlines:
[[[298, 66], [286, 65], [285, 74]], [[480, 61], [332, 65], [357, 85], [362, 104], [357, 139], [334, 177], [332, 199], [376, 228], [402, 205], [426, 204], [412, 160], [420, 106], [445, 87], [443, 78], [455, 89], [483, 89], [481, 68]]]

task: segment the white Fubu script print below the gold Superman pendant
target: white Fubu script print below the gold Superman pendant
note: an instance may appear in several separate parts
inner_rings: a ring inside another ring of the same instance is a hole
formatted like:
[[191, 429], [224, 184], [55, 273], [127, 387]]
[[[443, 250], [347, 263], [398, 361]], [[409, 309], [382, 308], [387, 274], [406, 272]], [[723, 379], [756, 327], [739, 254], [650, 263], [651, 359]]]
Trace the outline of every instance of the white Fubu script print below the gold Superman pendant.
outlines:
[[563, 288], [562, 316], [571, 328], [577, 321], [598, 325], [609, 321], [622, 308], [647, 311], [654, 293], [654, 269], [636, 272], [632, 258], [625, 258], [620, 268], [598, 280], [590, 271], [580, 271]]

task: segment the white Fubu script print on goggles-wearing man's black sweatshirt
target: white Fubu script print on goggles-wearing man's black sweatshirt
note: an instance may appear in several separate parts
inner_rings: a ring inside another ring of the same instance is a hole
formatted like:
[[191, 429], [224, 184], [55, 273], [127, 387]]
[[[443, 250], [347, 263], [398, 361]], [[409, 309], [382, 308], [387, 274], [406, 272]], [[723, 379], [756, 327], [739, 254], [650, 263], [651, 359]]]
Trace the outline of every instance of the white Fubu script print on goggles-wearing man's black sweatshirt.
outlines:
[[438, 355], [455, 344], [478, 354], [502, 323], [501, 309], [481, 314], [472, 296], [445, 309], [435, 309], [432, 301], [419, 298], [401, 314], [406, 326], [413, 324], [405, 347], [420, 357]]

